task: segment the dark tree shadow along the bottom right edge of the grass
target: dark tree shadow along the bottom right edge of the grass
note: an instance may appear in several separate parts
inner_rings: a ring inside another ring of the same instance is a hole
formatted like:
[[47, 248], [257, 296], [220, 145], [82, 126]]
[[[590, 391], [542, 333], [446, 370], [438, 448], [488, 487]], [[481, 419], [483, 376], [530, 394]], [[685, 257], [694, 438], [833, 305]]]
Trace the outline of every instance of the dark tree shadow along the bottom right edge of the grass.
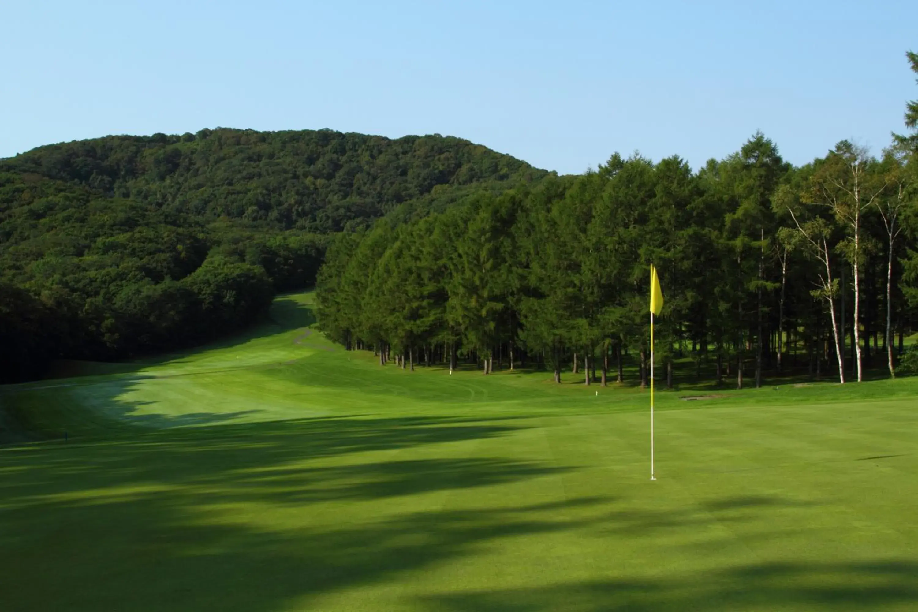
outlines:
[[484, 612], [914, 609], [912, 606], [918, 606], [918, 564], [759, 563], [673, 578], [435, 596], [429, 603], [431, 610]]

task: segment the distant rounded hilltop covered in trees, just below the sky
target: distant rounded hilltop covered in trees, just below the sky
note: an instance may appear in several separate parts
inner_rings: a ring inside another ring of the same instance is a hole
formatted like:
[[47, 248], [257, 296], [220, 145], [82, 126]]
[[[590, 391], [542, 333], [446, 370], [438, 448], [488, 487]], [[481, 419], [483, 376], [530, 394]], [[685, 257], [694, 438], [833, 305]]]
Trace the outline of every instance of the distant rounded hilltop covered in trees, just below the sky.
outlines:
[[382, 217], [437, 185], [547, 174], [452, 137], [227, 128], [39, 147], [0, 161], [0, 172], [80, 184], [171, 214], [322, 233]]

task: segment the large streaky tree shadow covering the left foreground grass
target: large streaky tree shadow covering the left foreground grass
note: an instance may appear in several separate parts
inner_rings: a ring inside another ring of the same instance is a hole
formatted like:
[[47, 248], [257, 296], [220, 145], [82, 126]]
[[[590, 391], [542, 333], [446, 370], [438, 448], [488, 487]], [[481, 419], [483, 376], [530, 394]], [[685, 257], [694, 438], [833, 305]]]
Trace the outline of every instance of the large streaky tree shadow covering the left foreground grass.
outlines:
[[315, 418], [0, 451], [3, 609], [275, 610], [586, 524], [565, 510], [603, 500], [431, 506], [564, 468], [387, 454], [519, 428]]

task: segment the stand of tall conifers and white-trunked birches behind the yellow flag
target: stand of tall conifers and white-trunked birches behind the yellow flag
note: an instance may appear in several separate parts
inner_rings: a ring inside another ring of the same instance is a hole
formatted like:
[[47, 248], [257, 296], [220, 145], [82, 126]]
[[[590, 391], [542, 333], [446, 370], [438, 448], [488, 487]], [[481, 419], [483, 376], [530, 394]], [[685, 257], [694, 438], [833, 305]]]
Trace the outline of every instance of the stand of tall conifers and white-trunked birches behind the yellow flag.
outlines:
[[627, 356], [645, 384], [654, 263], [668, 386], [679, 358], [739, 387], [791, 369], [894, 376], [918, 306], [918, 102], [905, 119], [912, 131], [879, 157], [842, 140], [793, 167], [756, 133], [698, 172], [616, 154], [581, 176], [383, 218], [331, 242], [319, 323], [403, 368], [534, 362], [558, 382], [570, 366], [606, 384]]

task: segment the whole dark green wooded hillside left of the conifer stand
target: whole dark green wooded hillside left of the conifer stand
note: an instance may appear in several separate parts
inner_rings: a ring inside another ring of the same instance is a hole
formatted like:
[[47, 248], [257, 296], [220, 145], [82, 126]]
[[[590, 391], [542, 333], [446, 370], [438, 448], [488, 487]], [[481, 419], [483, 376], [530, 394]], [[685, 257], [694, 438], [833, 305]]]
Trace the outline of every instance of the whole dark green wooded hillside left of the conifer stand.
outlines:
[[0, 382], [194, 345], [315, 282], [330, 234], [542, 179], [466, 140], [111, 136], [0, 160]]

